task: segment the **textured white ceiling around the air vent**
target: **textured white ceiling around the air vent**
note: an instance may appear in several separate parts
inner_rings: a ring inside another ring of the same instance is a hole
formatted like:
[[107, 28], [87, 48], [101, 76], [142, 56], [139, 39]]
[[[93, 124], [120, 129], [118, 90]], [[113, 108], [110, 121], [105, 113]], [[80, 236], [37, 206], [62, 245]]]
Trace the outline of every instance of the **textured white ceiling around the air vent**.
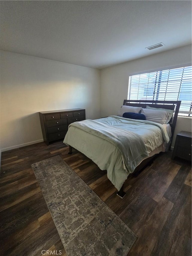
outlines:
[[191, 1], [0, 1], [0, 28], [1, 50], [101, 69], [191, 44]]

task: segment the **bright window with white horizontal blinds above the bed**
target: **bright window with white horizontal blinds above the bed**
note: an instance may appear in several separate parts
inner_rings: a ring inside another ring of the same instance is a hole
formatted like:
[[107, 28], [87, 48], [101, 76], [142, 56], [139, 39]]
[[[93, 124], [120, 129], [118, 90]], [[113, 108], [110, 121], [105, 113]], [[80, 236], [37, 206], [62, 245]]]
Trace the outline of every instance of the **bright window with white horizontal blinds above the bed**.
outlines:
[[191, 116], [192, 66], [130, 76], [128, 100], [180, 100], [179, 115]]

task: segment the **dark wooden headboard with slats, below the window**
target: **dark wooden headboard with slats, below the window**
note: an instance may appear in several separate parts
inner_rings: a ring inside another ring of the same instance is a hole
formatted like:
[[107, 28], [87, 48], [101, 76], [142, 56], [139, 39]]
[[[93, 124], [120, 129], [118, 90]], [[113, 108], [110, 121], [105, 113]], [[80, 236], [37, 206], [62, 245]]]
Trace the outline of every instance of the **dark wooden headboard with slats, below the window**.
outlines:
[[150, 107], [166, 108], [166, 109], [175, 110], [174, 115], [172, 116], [171, 120], [169, 121], [169, 124], [171, 126], [171, 134], [172, 134], [171, 142], [172, 142], [181, 101], [124, 100], [123, 105], [132, 106], [132, 107], [139, 106], [139, 107], [143, 107], [143, 108], [146, 108], [146, 106], [148, 105]]

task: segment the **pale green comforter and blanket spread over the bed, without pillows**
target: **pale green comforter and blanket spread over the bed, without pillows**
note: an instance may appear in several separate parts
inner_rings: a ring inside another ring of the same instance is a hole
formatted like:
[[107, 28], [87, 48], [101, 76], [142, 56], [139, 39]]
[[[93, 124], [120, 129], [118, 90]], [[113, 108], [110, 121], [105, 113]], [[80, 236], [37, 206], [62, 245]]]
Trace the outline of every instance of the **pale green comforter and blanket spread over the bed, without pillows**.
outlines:
[[129, 173], [162, 143], [168, 143], [169, 125], [109, 116], [69, 125], [64, 143], [82, 152], [120, 190]]

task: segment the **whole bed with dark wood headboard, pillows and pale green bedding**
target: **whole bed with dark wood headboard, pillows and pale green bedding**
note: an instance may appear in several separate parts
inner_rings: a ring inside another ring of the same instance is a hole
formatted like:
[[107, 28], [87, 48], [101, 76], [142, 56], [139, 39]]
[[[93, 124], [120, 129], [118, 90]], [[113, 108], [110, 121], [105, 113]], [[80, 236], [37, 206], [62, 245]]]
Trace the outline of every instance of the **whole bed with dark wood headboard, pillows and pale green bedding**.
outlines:
[[69, 154], [74, 148], [107, 170], [123, 198], [128, 175], [170, 149], [180, 104], [124, 100], [118, 115], [70, 124], [63, 143], [69, 146]]

